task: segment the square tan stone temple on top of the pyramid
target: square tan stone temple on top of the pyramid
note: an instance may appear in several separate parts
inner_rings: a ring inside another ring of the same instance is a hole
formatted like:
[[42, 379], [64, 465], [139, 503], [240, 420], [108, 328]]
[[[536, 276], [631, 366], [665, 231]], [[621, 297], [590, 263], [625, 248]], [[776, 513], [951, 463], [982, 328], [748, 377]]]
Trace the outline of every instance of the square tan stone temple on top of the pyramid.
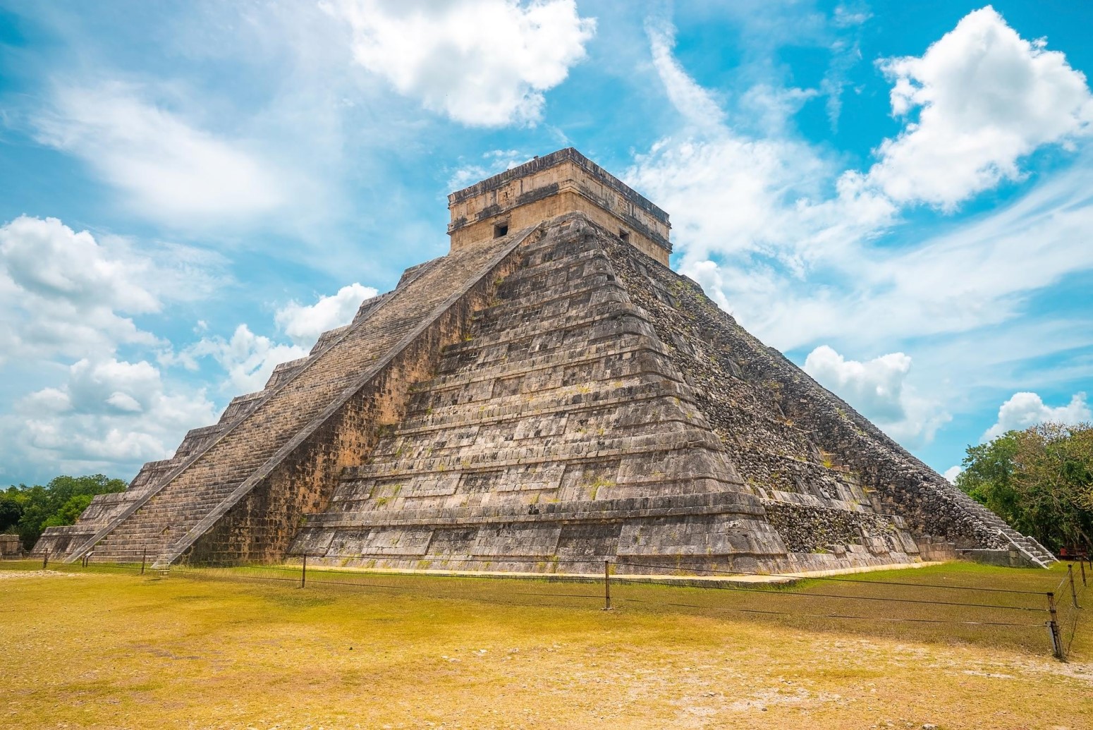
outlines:
[[451, 250], [581, 211], [668, 266], [668, 213], [573, 148], [536, 157], [448, 196]]

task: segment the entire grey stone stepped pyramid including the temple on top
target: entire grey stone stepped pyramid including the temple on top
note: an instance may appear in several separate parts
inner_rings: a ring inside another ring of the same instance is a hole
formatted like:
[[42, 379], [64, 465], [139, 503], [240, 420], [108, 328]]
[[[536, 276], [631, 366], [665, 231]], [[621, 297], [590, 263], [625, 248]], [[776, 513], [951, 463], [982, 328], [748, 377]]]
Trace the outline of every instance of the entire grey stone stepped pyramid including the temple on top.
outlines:
[[1053, 558], [668, 268], [572, 149], [449, 196], [451, 250], [36, 552], [591, 573]]

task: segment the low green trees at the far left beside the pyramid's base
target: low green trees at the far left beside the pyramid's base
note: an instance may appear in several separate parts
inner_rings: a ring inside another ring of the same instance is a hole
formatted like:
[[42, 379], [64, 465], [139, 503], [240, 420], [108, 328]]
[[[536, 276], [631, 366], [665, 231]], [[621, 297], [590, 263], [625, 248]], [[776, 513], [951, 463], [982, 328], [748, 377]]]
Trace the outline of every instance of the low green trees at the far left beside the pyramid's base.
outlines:
[[96, 494], [124, 492], [127, 483], [104, 474], [61, 475], [42, 486], [9, 486], [0, 492], [0, 533], [15, 533], [25, 550], [34, 548], [47, 527], [75, 525]]

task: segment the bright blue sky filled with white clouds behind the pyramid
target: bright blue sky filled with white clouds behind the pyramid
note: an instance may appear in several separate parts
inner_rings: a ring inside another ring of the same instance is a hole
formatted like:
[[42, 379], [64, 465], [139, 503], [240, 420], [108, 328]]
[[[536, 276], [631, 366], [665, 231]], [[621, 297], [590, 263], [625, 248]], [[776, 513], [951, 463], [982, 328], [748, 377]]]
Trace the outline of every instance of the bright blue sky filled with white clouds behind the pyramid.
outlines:
[[131, 479], [575, 146], [952, 478], [1093, 420], [1093, 5], [0, 0], [0, 483]]

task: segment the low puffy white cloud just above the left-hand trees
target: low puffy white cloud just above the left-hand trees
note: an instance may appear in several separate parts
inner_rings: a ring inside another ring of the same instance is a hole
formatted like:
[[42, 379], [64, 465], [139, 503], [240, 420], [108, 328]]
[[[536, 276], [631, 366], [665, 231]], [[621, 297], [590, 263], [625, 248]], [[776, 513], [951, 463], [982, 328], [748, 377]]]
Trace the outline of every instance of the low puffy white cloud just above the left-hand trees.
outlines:
[[2, 425], [17, 458], [38, 471], [134, 473], [215, 420], [203, 390], [168, 389], [153, 365], [107, 357], [78, 361], [64, 384], [21, 399]]

